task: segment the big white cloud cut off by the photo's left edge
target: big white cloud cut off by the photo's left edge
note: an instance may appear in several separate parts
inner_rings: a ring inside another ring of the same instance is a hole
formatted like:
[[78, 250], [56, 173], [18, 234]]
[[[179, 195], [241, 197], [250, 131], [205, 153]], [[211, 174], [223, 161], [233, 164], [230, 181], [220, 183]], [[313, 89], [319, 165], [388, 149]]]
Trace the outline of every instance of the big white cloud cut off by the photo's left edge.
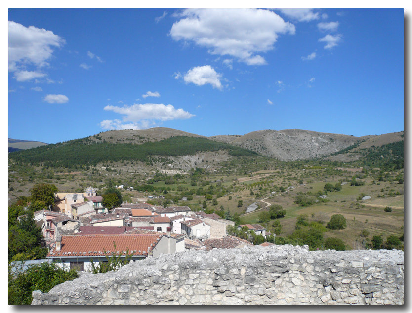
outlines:
[[[34, 26], [25, 27], [8, 21], [9, 71], [14, 72], [14, 78], [25, 79], [18, 81], [44, 77], [47, 74], [41, 73], [39, 69], [49, 65], [53, 48], [61, 48], [65, 43], [64, 39], [53, 34], [52, 31]], [[27, 71], [28, 66], [35, 66], [37, 69]]]

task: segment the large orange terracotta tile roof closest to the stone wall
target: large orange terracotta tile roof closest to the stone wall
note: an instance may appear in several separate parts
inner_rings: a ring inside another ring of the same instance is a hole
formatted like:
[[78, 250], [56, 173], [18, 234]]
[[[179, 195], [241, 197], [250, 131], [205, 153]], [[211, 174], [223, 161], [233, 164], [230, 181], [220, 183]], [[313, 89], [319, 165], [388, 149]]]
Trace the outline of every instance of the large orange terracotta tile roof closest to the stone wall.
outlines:
[[55, 246], [47, 254], [47, 257], [93, 257], [104, 256], [104, 250], [108, 253], [114, 251], [113, 242], [116, 243], [116, 251], [127, 249], [134, 256], [147, 256], [162, 235], [62, 235], [61, 250], [56, 251]]

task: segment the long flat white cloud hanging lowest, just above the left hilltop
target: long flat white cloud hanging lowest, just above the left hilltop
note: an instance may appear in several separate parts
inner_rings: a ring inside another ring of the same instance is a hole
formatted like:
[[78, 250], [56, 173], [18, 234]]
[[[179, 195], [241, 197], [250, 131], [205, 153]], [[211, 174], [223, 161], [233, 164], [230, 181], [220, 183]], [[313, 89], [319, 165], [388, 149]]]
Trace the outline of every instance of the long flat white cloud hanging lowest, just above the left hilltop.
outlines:
[[134, 104], [123, 107], [108, 105], [105, 111], [113, 111], [123, 115], [123, 120], [104, 120], [100, 123], [103, 129], [145, 129], [156, 125], [156, 121], [167, 121], [174, 119], [188, 119], [194, 117], [183, 109], [175, 109], [171, 104]]

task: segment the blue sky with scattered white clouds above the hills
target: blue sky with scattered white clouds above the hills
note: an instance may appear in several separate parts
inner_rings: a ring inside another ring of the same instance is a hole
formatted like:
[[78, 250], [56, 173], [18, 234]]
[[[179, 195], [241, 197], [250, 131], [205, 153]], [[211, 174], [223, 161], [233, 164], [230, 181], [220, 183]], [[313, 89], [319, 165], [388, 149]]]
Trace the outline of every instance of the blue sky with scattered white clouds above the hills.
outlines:
[[402, 9], [9, 9], [8, 137], [404, 130]]

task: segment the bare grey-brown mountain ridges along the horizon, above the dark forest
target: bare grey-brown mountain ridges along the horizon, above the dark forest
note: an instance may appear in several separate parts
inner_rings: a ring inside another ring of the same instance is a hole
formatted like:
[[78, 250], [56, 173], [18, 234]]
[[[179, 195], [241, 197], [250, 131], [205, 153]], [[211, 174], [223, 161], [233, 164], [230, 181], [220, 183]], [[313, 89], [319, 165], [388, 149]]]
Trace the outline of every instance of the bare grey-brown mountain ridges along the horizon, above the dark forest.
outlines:
[[[110, 144], [141, 145], [176, 136], [200, 137], [224, 144], [234, 145], [282, 161], [324, 156], [330, 156], [329, 159], [331, 160], [339, 159], [342, 161], [351, 161], [358, 158], [356, 154], [357, 150], [380, 147], [386, 144], [403, 141], [403, 135], [404, 132], [400, 131], [383, 135], [355, 137], [351, 135], [321, 133], [301, 129], [286, 129], [279, 131], [258, 130], [247, 133], [246, 135], [217, 135], [205, 137], [176, 129], [156, 127], [144, 130], [110, 130], [83, 138], [82, 141], [87, 141], [88, 144], [105, 142]], [[192, 140], [191, 142], [195, 143], [197, 141]], [[47, 144], [37, 141], [9, 139], [9, 152], [10, 148], [29, 149], [42, 145]], [[340, 156], [331, 156], [340, 151], [345, 151], [346, 153]]]

